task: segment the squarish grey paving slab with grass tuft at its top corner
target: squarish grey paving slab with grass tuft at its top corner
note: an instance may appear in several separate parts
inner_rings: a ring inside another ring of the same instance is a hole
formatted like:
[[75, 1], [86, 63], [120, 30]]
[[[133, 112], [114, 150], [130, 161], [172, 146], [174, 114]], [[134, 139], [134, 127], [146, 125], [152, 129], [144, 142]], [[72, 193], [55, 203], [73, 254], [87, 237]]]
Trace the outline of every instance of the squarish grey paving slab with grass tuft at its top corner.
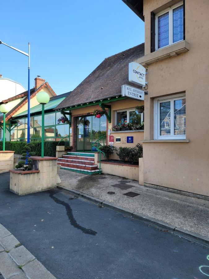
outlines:
[[25, 265], [35, 259], [35, 257], [24, 247], [12, 249], [9, 252], [11, 258], [17, 263], [17, 265]]

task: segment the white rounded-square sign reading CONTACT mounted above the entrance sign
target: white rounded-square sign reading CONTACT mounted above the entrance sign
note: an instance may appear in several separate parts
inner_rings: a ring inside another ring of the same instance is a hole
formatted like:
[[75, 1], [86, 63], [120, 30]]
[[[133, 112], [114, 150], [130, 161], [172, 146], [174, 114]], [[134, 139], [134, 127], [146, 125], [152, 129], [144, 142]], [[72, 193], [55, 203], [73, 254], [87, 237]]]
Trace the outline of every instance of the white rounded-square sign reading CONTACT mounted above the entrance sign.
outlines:
[[138, 85], [145, 86], [146, 69], [141, 64], [131, 62], [128, 64], [128, 80]]

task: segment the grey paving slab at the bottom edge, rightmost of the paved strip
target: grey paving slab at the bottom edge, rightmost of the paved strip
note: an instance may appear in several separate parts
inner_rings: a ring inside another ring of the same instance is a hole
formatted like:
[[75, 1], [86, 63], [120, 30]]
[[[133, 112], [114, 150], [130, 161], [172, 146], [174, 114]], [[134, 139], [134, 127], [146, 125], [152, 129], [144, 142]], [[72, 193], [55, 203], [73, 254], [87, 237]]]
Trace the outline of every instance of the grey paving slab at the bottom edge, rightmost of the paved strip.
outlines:
[[56, 279], [37, 259], [22, 267], [26, 276], [33, 279]]

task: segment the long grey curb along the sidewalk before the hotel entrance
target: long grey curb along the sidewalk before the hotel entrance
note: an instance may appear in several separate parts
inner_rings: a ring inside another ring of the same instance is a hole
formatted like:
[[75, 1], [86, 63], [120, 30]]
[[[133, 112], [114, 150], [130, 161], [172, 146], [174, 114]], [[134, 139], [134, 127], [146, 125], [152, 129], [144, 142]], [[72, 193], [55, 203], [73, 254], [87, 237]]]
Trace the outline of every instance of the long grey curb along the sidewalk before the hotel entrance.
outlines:
[[[76, 190], [69, 189], [69, 188], [64, 187], [62, 185], [60, 185], [57, 188], [67, 190], [70, 193], [72, 193], [73, 195], [76, 195], [78, 197], [81, 196], [82, 198], [93, 201], [94, 203], [97, 203], [97, 204], [98, 204], [98, 200], [102, 201], [98, 198], [83, 194], [83, 193], [81, 193], [79, 191], [76, 191]], [[91, 197], [91, 199], [89, 199], [89, 197]], [[190, 240], [190, 241], [196, 242], [200, 245], [209, 247], [209, 238], [206, 237], [206, 236], [203, 236], [201, 234], [197, 234], [195, 232], [191, 232], [191, 231], [188, 231], [188, 230], [184, 230], [182, 228], [178, 228], [176, 226], [165, 223], [165, 222], [160, 221], [158, 219], [154, 219], [154, 218], [151, 218], [149, 216], [139, 214], [135, 211], [128, 210], [127, 208], [116, 206], [116, 205], [114, 205], [110, 202], [107, 202], [107, 201], [102, 201], [101, 205], [104, 206], [104, 207], [107, 207], [108, 209], [111, 209], [111, 210], [117, 211], [119, 213], [122, 213], [122, 214], [124, 214], [128, 217], [132, 217], [133, 219], [136, 219], [136, 220], [138, 220], [140, 222], [143, 222], [145, 224], [154, 226], [155, 228], [159, 228], [161, 230], [162, 229], [168, 230], [168, 232], [171, 232], [174, 235], [178, 235], [179, 237], [183, 237], [187, 240]]]

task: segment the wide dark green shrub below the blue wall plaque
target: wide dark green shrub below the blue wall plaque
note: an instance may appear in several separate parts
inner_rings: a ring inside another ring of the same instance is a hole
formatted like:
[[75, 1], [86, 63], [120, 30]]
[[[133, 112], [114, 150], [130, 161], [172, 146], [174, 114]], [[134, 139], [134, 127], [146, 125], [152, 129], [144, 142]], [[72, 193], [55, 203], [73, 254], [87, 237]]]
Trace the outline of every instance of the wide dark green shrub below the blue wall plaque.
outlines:
[[121, 161], [136, 164], [139, 162], [139, 158], [143, 156], [143, 147], [141, 144], [137, 144], [135, 147], [120, 146], [115, 148], [115, 152]]

